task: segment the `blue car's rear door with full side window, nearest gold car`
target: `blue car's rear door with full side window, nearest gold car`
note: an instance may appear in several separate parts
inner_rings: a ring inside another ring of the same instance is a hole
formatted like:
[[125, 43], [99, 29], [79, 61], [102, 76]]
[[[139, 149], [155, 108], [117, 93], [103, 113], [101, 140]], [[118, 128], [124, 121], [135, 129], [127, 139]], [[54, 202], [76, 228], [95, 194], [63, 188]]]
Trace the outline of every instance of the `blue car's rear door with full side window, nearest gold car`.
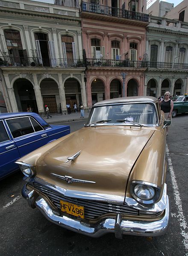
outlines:
[[32, 117], [6, 119], [6, 124], [21, 156], [44, 146], [48, 142], [47, 132]]

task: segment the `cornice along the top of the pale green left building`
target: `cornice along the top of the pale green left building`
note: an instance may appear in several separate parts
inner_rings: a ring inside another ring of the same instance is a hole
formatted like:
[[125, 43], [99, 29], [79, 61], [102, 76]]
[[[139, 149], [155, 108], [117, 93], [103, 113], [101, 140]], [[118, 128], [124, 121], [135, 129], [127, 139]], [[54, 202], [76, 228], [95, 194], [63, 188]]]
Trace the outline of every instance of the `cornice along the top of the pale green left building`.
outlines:
[[42, 12], [34, 12], [34, 11], [27, 11], [27, 10], [15, 10], [10, 8], [2, 8], [0, 9], [0, 17], [17, 17], [17, 18], [27, 18], [27, 19], [34, 19], [42, 20], [42, 21], [54, 21], [54, 22], [66, 22], [71, 24], [79, 24], [81, 22], [81, 18], [79, 17], [71, 17], [65, 15], [57, 15], [54, 13], [42, 13]]

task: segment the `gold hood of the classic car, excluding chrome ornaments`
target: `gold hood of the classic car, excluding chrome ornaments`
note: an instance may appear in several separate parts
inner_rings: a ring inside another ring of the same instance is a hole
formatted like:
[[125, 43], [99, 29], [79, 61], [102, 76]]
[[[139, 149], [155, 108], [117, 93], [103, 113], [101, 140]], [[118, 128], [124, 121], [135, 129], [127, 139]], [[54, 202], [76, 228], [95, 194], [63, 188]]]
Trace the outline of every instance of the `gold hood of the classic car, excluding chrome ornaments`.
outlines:
[[[124, 195], [129, 173], [154, 130], [149, 127], [85, 127], [40, 156], [37, 177], [65, 189]], [[81, 150], [67, 163], [67, 157]], [[54, 177], [70, 176], [95, 183]]]

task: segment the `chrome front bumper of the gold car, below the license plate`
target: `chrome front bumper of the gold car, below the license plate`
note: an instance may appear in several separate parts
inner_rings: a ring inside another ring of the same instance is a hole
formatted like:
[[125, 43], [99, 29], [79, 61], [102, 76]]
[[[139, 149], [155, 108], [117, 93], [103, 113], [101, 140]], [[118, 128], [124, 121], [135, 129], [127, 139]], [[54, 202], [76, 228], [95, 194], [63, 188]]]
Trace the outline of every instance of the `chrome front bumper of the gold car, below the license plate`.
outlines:
[[85, 224], [67, 216], [59, 216], [44, 198], [38, 196], [33, 190], [29, 191], [26, 186], [22, 189], [22, 196], [27, 200], [30, 207], [37, 207], [41, 213], [51, 222], [64, 227], [68, 230], [78, 232], [83, 235], [100, 237], [106, 233], [115, 233], [116, 238], [122, 238], [122, 235], [140, 235], [140, 236], [158, 236], [163, 235], [169, 226], [170, 208], [167, 196], [167, 205], [164, 217], [159, 221], [130, 221], [122, 220], [121, 215], [117, 214], [116, 218], [105, 218], [97, 224]]

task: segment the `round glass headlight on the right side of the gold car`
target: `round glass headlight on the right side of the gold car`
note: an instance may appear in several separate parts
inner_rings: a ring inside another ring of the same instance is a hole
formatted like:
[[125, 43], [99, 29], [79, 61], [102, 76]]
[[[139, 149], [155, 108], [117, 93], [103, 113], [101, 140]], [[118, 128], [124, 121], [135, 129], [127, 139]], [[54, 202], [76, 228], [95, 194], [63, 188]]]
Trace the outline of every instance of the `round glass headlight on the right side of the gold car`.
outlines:
[[134, 193], [141, 200], [151, 200], [155, 196], [156, 191], [150, 185], [137, 184], [134, 187]]

